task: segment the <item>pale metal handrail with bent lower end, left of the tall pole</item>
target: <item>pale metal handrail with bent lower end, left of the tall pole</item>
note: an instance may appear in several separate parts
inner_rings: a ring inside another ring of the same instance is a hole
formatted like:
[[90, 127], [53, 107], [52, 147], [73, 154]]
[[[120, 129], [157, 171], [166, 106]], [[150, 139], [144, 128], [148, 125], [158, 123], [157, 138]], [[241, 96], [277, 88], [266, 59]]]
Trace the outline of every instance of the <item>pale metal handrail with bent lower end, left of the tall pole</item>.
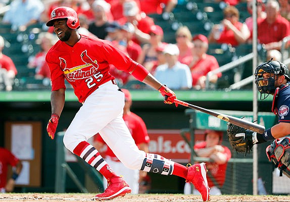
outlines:
[[252, 60], [253, 57], [254, 57], [254, 54], [253, 53], [250, 53], [250, 54], [248, 54], [248, 55], [246, 55], [244, 57], [241, 57], [241, 58], [239, 58], [239, 59], [237, 59], [235, 61], [232, 61], [232, 62], [230, 62], [228, 64], [225, 64], [225, 65], [221, 66], [218, 69], [215, 69], [213, 71], [210, 71], [206, 75], [206, 89], [209, 89], [210, 88], [210, 77], [212, 75], [215, 75], [215, 74], [220, 73], [220, 72], [222, 73], [222, 72], [231, 70], [231, 69], [235, 68], [238, 65], [241, 65], [241, 64], [243, 64], [243, 63], [245, 63], [245, 62], [247, 62], [249, 60]]

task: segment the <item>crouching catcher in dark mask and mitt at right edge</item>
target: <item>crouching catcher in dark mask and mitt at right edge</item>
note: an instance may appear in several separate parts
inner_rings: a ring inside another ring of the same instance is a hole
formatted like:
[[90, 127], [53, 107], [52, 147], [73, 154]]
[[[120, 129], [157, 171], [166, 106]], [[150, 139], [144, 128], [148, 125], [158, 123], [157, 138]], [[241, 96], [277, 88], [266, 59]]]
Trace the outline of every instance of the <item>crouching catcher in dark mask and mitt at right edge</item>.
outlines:
[[[269, 161], [290, 178], [290, 77], [288, 68], [272, 59], [255, 70], [255, 83], [260, 91], [260, 99], [273, 95], [272, 112], [278, 116], [278, 124], [265, 130], [263, 134], [228, 124], [227, 135], [231, 146], [237, 152], [250, 153], [253, 144], [274, 140], [266, 148]], [[279, 139], [285, 137], [284, 139]]]

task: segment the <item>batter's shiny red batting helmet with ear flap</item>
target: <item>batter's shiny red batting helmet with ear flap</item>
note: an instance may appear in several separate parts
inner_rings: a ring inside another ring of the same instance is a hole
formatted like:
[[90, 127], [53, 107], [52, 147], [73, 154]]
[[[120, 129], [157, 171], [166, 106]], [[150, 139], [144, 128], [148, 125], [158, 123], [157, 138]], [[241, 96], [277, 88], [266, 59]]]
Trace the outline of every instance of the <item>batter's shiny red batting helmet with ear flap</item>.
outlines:
[[47, 27], [52, 27], [56, 19], [67, 19], [67, 26], [71, 29], [78, 29], [79, 19], [75, 10], [69, 7], [58, 7], [52, 11], [51, 20], [46, 23]]

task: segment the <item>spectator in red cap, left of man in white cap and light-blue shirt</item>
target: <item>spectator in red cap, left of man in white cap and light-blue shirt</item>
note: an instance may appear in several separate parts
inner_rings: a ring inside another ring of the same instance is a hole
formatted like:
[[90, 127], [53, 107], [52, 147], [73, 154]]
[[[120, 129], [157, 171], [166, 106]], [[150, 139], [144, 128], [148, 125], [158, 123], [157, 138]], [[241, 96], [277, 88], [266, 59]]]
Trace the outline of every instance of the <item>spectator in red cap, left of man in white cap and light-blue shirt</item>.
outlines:
[[158, 61], [156, 49], [162, 45], [163, 30], [158, 25], [152, 25], [149, 35], [149, 43], [143, 45], [142, 53], [137, 62], [142, 64], [148, 71], [152, 71], [153, 66]]

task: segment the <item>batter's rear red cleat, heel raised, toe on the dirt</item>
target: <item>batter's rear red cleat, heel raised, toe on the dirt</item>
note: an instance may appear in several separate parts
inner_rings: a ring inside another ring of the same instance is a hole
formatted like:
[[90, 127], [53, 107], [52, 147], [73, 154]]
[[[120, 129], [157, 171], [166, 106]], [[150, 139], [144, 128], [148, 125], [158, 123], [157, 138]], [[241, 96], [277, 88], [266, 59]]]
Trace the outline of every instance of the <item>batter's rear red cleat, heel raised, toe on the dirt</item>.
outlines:
[[207, 180], [207, 168], [205, 163], [194, 164], [188, 167], [186, 182], [191, 182], [202, 194], [204, 201], [210, 200], [210, 187]]

